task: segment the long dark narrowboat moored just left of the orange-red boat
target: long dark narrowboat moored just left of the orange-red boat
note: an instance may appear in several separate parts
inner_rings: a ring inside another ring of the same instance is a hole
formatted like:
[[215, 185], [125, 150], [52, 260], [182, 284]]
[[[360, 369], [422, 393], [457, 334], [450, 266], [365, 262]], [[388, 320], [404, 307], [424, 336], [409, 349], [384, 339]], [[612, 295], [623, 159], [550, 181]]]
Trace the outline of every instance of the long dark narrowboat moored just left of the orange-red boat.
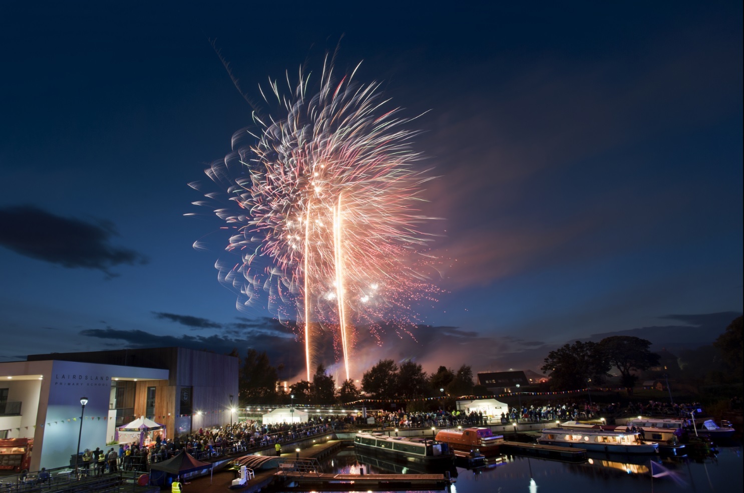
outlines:
[[452, 454], [449, 446], [434, 439], [360, 432], [354, 436], [354, 446], [366, 453], [385, 454], [404, 462], [449, 465], [455, 460], [455, 454]]

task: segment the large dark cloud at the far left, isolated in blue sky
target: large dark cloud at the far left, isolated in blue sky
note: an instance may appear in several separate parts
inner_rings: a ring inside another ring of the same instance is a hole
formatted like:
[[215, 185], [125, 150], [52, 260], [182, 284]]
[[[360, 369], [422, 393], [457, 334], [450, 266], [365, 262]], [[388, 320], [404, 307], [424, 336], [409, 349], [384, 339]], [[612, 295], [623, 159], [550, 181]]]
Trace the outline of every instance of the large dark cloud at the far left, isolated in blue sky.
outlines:
[[115, 277], [111, 267], [147, 263], [144, 255], [109, 244], [115, 235], [116, 229], [106, 220], [86, 223], [35, 206], [0, 209], [0, 245], [68, 269], [97, 269]]

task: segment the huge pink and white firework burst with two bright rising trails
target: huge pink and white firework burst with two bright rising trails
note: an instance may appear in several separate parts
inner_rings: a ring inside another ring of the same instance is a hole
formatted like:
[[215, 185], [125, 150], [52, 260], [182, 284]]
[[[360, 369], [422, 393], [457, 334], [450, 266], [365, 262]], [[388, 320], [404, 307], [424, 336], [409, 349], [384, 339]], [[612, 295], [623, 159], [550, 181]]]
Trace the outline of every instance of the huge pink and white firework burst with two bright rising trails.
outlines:
[[414, 168], [417, 132], [403, 129], [410, 120], [387, 108], [379, 83], [353, 82], [354, 72], [336, 80], [326, 60], [314, 94], [302, 69], [295, 86], [287, 75], [287, 94], [269, 80], [261, 95], [277, 114], [254, 112], [234, 151], [205, 170], [239, 207], [215, 211], [234, 230], [227, 249], [242, 257], [220, 279], [246, 305], [268, 292], [269, 309], [298, 319], [309, 381], [317, 331], [336, 331], [348, 379], [355, 326], [374, 331], [388, 318], [407, 331], [418, 321], [411, 304], [437, 291], [420, 252], [429, 218], [417, 203], [430, 178]]

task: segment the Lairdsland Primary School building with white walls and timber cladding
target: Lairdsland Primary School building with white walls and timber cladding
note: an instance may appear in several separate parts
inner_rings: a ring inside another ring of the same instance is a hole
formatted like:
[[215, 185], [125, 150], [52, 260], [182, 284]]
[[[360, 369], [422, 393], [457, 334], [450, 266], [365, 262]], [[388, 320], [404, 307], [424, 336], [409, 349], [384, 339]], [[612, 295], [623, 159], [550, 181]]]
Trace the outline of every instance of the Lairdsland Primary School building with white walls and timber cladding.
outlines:
[[193, 349], [32, 354], [0, 363], [0, 437], [33, 439], [31, 470], [60, 467], [77, 452], [80, 398], [80, 451], [103, 449], [139, 416], [164, 424], [168, 438], [228, 424], [237, 378], [237, 357]]

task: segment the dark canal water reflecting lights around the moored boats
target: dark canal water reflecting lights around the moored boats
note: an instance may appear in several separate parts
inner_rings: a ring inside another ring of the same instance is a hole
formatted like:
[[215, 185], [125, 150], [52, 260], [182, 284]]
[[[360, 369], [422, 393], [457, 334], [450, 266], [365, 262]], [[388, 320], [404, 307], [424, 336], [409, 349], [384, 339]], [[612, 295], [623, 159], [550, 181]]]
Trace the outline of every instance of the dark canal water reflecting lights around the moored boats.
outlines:
[[[533, 457], [499, 456], [481, 468], [452, 468], [456, 482], [443, 492], [524, 493], [635, 493], [635, 492], [741, 492], [744, 459], [740, 442], [717, 448], [717, 454], [693, 457], [615, 456], [590, 453], [583, 464]], [[651, 460], [655, 474], [652, 478]], [[411, 469], [379, 456], [357, 455], [341, 449], [321, 462], [324, 472], [359, 474], [443, 474], [445, 471]], [[661, 467], [658, 467], [658, 466]], [[318, 492], [319, 493], [319, 492]]]

